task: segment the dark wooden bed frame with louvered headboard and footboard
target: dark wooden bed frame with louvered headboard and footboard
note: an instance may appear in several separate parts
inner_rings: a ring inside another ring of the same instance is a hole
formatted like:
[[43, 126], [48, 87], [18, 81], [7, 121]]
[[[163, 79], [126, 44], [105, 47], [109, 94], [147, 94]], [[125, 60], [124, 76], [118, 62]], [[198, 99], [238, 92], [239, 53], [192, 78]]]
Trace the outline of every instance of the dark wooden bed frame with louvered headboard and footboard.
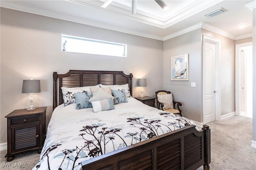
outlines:
[[[63, 103], [61, 87], [128, 83], [132, 95], [132, 74], [126, 75], [121, 71], [70, 70], [66, 74], [54, 72], [53, 81], [53, 109]], [[203, 125], [202, 130], [197, 131], [195, 125], [189, 125], [85, 160], [82, 162], [82, 169], [195, 170], [203, 165], [204, 170], [210, 170], [210, 162], [209, 126]]]

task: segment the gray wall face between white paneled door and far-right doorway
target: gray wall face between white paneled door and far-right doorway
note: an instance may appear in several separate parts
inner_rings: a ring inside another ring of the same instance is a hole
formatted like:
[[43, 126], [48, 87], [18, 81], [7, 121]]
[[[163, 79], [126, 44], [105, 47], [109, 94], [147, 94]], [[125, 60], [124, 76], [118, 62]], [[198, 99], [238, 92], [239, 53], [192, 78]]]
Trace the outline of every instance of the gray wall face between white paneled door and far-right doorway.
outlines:
[[202, 35], [221, 40], [220, 90], [221, 116], [235, 111], [235, 41], [202, 29]]

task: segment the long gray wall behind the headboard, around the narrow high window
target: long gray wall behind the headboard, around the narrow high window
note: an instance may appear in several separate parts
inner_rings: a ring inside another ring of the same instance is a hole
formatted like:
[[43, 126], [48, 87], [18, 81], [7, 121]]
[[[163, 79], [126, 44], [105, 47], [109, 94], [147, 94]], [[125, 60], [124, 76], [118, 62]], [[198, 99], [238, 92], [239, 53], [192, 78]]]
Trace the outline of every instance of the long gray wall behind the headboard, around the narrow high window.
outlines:
[[[137, 78], [147, 78], [145, 96], [163, 88], [163, 41], [108, 29], [1, 8], [0, 143], [6, 143], [6, 116], [28, 106], [22, 94], [22, 80], [41, 80], [41, 92], [34, 94], [35, 107], [47, 106], [52, 113], [52, 72], [68, 70], [122, 70], [133, 73], [133, 96], [139, 96]], [[111, 57], [61, 51], [61, 34], [124, 43], [128, 57]]]

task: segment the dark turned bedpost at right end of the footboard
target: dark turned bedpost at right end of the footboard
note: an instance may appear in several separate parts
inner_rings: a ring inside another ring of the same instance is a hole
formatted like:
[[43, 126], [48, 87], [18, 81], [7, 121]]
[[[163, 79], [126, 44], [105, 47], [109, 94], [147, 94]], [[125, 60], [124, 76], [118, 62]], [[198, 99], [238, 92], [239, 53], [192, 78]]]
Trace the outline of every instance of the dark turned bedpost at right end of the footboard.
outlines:
[[205, 138], [204, 138], [204, 157], [205, 157], [205, 164], [204, 164], [204, 170], [210, 170], [210, 162], [211, 162], [211, 136], [210, 136], [210, 130], [208, 125], [203, 125], [202, 130], [205, 132]]

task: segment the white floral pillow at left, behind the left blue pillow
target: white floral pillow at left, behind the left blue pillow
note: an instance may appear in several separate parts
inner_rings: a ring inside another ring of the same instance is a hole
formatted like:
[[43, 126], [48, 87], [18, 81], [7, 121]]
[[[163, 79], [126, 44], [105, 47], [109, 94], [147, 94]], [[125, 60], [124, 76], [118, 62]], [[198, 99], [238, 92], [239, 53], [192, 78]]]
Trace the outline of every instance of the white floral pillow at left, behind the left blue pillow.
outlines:
[[64, 106], [67, 106], [72, 103], [76, 103], [75, 93], [85, 93], [90, 92], [90, 87], [100, 87], [96, 86], [85, 86], [85, 87], [61, 87], [62, 98], [64, 100]]

